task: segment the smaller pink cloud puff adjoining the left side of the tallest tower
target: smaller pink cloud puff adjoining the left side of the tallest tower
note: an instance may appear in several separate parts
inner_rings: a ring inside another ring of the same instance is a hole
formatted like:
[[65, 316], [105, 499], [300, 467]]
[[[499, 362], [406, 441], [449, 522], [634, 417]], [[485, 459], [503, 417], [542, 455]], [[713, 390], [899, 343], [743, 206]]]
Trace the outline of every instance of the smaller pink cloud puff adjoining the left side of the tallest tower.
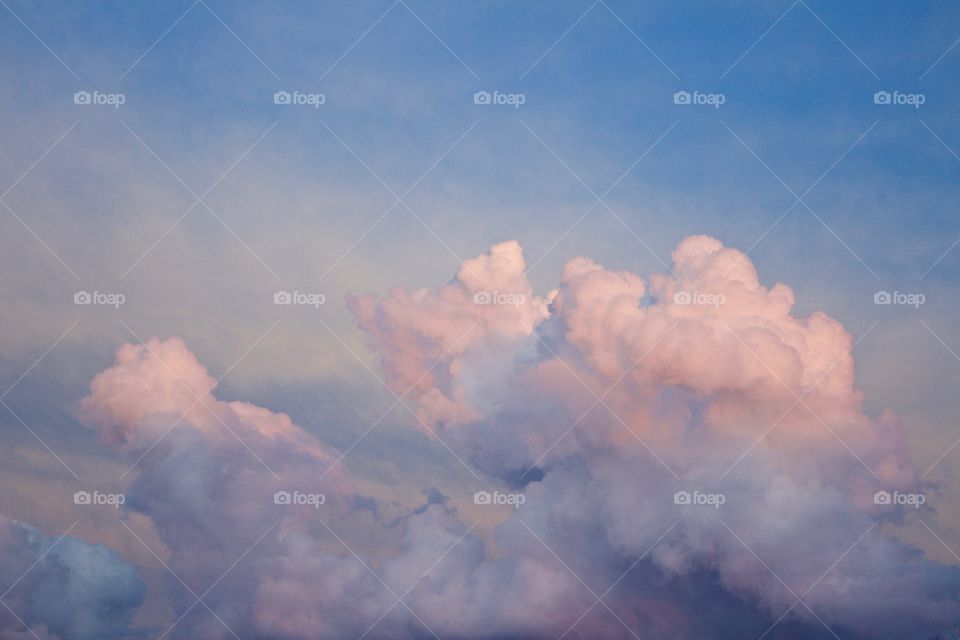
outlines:
[[472, 382], [504, 373], [496, 354], [515, 349], [547, 317], [547, 300], [533, 295], [525, 269], [520, 245], [504, 242], [464, 262], [439, 289], [348, 297], [389, 384], [417, 400], [425, 430], [478, 418]]

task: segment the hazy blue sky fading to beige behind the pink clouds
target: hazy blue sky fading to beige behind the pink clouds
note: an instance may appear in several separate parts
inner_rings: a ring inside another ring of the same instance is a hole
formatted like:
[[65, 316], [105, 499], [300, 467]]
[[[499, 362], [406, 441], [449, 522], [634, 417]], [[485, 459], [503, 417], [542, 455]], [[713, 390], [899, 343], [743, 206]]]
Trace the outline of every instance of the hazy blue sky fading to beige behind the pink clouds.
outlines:
[[[122, 488], [128, 462], [76, 410], [123, 342], [180, 337], [228, 373], [220, 397], [344, 450], [393, 401], [348, 294], [441, 287], [517, 240], [546, 295], [576, 256], [646, 276], [706, 234], [747, 252], [764, 285], [788, 284], [798, 315], [865, 336], [865, 412], [894, 411], [918, 468], [936, 462], [931, 522], [960, 539], [960, 447], [938, 460], [960, 410], [957, 6], [2, 4], [0, 466], [14, 489], [0, 514], [48, 536], [77, 519], [25, 488], [76, 485], [50, 451]], [[74, 104], [77, 91], [124, 103]], [[277, 91], [324, 103], [274, 104]], [[478, 105], [477, 91], [523, 104]], [[675, 104], [681, 91], [723, 104]], [[878, 91], [923, 104], [875, 104]], [[278, 309], [280, 289], [327, 302]], [[79, 290], [127, 302], [78, 307]], [[882, 290], [926, 301], [874, 305]], [[466, 491], [409, 422], [391, 412], [351, 454], [360, 476], [411, 504], [428, 485]], [[155, 587], [162, 570], [114, 515], [80, 514], [76, 533]], [[891, 535], [956, 564], [916, 523]], [[170, 613], [158, 589], [146, 626]]]

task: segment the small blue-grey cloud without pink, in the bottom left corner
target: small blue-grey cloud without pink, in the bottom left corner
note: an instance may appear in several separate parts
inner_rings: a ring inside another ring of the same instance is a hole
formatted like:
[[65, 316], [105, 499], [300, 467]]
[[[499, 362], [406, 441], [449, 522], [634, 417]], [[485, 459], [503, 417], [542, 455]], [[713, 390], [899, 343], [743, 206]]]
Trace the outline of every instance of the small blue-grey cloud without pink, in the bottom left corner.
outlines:
[[116, 551], [72, 536], [45, 536], [0, 515], [0, 559], [0, 580], [12, 587], [4, 602], [13, 612], [2, 610], [0, 638], [129, 637], [146, 588]]

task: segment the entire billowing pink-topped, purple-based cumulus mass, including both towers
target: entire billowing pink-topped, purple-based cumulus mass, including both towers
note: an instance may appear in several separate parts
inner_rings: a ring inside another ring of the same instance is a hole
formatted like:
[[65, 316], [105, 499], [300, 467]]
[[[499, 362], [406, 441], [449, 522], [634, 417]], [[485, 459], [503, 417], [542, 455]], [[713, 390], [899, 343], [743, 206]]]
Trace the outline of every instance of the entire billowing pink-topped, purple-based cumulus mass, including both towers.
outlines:
[[893, 638], [960, 618], [960, 572], [877, 525], [908, 512], [876, 491], [928, 488], [895, 417], [863, 412], [840, 323], [793, 315], [789, 287], [704, 236], [648, 279], [576, 258], [540, 297], [525, 270], [508, 242], [436, 289], [347, 302], [415, 427], [478, 489], [524, 493], [492, 537], [437, 492], [387, 517], [340, 452], [217, 399], [179, 340], [118, 351], [82, 416], [139, 459], [126, 507], [174, 571], [217, 585], [177, 603], [174, 635], [733, 638], [783, 616]]

